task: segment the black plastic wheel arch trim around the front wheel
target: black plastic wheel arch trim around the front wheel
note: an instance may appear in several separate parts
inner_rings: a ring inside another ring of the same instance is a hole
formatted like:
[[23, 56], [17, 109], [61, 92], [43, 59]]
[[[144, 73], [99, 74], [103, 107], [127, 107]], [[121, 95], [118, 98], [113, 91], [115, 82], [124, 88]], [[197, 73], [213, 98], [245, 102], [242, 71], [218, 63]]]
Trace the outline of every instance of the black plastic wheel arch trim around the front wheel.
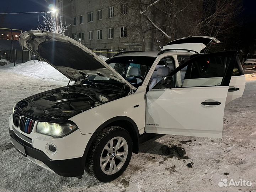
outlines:
[[117, 117], [108, 119], [107, 121], [102, 123], [101, 126], [98, 127], [95, 130], [95, 132], [92, 134], [89, 142], [86, 145], [85, 151], [84, 151], [84, 155], [83, 155], [84, 161], [86, 161], [87, 154], [88, 154], [90, 147], [92, 145], [92, 142], [96, 138], [98, 132], [100, 132], [102, 129], [104, 129], [106, 127], [110, 127], [110, 126], [119, 126], [119, 127], [126, 129], [128, 131], [128, 133], [130, 134], [130, 136], [132, 137], [133, 153], [136, 153], [136, 154], [139, 153], [139, 130], [138, 130], [137, 124], [131, 118], [129, 118], [127, 116], [117, 116]]

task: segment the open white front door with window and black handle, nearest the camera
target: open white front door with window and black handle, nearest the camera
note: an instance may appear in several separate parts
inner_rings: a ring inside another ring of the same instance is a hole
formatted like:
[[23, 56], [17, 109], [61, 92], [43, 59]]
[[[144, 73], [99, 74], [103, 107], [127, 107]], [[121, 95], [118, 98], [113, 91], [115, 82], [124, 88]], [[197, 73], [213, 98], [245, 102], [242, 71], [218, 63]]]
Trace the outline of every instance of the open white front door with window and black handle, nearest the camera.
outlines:
[[[166, 77], [146, 94], [145, 132], [222, 137], [225, 101], [236, 55], [236, 51], [199, 54], [167, 76], [161, 74], [166, 72], [164, 68], [158, 69], [158, 76]], [[177, 73], [184, 68], [185, 78], [177, 87]]]

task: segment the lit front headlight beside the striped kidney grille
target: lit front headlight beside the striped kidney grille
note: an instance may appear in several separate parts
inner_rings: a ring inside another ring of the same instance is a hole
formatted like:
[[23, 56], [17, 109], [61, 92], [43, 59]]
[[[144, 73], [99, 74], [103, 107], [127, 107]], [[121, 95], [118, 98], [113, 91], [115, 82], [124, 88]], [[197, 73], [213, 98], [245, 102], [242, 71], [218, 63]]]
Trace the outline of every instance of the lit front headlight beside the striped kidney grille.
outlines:
[[75, 124], [71, 123], [50, 123], [50, 122], [38, 122], [36, 132], [50, 135], [54, 138], [64, 137], [74, 130], [78, 129]]

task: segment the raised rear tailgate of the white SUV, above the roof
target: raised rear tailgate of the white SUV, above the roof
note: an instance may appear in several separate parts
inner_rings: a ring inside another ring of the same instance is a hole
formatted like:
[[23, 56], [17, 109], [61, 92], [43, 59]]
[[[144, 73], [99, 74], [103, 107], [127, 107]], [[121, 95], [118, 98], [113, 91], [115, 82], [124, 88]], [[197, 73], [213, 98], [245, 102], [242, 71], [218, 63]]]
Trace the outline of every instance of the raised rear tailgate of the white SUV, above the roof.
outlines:
[[[220, 43], [218, 39], [215, 37], [208, 36], [190, 36], [190, 37], [182, 37], [180, 39], [176, 39], [167, 43], [166, 46], [163, 47], [165, 49], [173, 49], [173, 50], [189, 50], [195, 53], [200, 53], [203, 49], [207, 49], [211, 44]], [[204, 50], [206, 52], [206, 50]]]

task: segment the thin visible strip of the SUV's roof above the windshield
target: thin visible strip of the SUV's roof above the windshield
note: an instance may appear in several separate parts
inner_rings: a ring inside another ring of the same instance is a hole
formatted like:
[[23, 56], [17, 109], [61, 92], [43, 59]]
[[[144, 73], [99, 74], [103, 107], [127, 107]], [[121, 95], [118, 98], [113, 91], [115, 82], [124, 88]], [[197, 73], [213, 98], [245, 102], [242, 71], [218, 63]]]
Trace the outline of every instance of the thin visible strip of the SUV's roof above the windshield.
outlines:
[[195, 54], [195, 53], [191, 53], [191, 52], [178, 52], [178, 51], [166, 51], [160, 55], [158, 55], [160, 51], [141, 51], [141, 52], [131, 52], [131, 53], [124, 53], [124, 54], [120, 54], [114, 57], [159, 57], [160, 55], [191, 55], [191, 54]]

